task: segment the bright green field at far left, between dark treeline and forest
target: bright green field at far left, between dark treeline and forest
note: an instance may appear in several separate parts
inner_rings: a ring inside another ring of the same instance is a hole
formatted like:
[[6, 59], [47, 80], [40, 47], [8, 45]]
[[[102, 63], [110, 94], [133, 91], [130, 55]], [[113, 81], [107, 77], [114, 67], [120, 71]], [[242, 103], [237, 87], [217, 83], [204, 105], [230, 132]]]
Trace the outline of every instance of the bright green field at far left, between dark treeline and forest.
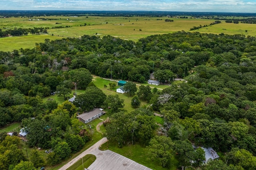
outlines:
[[44, 43], [45, 39], [55, 40], [63, 37], [51, 35], [26, 35], [20, 37], [0, 38], [0, 51], [13, 51], [14, 49], [30, 49], [36, 47], [36, 43]]

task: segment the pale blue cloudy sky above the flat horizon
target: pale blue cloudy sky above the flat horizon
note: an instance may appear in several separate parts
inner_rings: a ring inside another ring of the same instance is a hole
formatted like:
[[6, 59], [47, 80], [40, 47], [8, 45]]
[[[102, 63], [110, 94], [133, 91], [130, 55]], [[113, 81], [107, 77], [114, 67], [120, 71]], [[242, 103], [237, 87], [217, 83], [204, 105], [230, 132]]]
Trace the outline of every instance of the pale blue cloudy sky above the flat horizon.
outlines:
[[256, 0], [1, 0], [0, 10], [144, 10], [256, 13]]

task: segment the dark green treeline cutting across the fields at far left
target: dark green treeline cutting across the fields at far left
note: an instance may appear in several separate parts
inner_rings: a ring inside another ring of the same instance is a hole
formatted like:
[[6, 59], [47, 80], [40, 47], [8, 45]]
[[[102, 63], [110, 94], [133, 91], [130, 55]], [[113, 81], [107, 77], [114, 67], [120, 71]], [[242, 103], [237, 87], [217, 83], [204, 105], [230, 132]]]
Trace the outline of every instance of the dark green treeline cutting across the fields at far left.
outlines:
[[6, 29], [6, 30], [0, 29], [0, 37], [7, 37], [9, 35], [11, 36], [28, 35], [28, 33], [31, 33], [31, 34], [47, 33], [47, 29], [49, 28], [34, 27], [34, 28], [14, 28], [14, 29]]

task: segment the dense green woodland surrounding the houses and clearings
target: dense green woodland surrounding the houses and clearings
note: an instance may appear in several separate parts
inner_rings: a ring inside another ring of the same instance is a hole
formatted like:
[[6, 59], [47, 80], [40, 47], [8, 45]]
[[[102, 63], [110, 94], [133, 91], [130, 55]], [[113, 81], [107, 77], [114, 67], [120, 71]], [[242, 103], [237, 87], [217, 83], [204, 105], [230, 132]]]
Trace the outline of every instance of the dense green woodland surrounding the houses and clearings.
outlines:
[[[254, 170], [255, 40], [244, 35], [184, 31], [152, 35], [138, 42], [84, 35], [46, 39], [34, 49], [0, 52], [0, 127], [22, 122], [22, 127], [30, 131], [31, 147], [54, 148], [46, 160], [54, 165], [90, 140], [88, 130], [76, 119], [76, 106], [90, 110], [102, 104], [103, 108], [112, 108], [104, 136], [119, 147], [146, 147], [152, 160], [166, 169]], [[170, 87], [151, 90], [140, 86], [138, 92], [132, 90], [130, 95], [148, 102], [149, 107], [131, 113], [122, 110], [123, 101], [118, 96], [102, 94], [91, 76], [144, 83], [152, 72]], [[176, 77], [185, 77], [187, 82], [172, 84]], [[78, 89], [86, 90], [74, 105], [42, 101], [56, 91], [65, 98], [74, 82]], [[163, 115], [164, 125], [156, 124], [154, 111]], [[222, 155], [200, 166], [204, 154], [200, 148], [194, 151], [192, 143], [212, 147]], [[18, 145], [18, 139], [1, 133], [0, 169], [29, 166]], [[174, 159], [176, 165], [171, 161]], [[33, 164], [34, 169], [42, 166]]]

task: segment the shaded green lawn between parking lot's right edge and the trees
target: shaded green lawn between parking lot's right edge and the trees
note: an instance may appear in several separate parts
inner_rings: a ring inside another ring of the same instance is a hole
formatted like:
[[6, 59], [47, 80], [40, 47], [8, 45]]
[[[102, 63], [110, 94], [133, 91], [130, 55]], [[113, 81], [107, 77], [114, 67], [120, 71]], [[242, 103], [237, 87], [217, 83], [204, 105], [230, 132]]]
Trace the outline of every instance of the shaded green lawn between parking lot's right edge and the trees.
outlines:
[[112, 150], [113, 152], [116, 152], [127, 158], [130, 158], [131, 160], [134, 160], [135, 162], [138, 162], [139, 164], [147, 166], [148, 168], [151, 168], [153, 170], [176, 170], [177, 160], [175, 160], [175, 158], [172, 158], [171, 160], [172, 166], [170, 168], [163, 168], [160, 162], [150, 158], [151, 156], [145, 147], [142, 147], [138, 144], [128, 145], [128, 146], [119, 148], [118, 144], [108, 142], [108, 143], [104, 143], [100, 149]]

